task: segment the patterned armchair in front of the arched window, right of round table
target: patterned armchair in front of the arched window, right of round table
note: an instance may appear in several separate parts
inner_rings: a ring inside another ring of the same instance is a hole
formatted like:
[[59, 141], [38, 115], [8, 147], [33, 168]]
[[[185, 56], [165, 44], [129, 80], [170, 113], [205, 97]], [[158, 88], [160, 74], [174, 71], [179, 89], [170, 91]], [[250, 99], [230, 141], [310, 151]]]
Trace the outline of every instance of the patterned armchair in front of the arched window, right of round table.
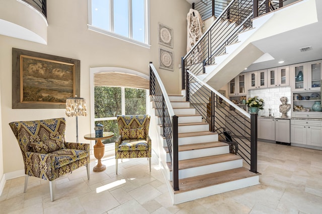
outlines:
[[115, 142], [116, 174], [118, 159], [146, 157], [151, 171], [149, 115], [117, 115], [120, 136]]

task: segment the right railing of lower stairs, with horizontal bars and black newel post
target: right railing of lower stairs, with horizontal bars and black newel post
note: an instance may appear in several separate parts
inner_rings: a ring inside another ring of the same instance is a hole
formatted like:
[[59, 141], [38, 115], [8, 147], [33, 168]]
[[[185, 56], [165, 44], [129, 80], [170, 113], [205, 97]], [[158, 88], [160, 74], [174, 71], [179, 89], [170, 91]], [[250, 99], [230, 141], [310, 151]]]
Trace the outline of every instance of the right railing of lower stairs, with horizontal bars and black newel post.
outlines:
[[231, 133], [232, 141], [238, 144], [237, 154], [250, 165], [250, 171], [257, 173], [257, 114], [241, 109], [189, 70], [186, 77], [190, 105], [209, 123], [210, 131]]

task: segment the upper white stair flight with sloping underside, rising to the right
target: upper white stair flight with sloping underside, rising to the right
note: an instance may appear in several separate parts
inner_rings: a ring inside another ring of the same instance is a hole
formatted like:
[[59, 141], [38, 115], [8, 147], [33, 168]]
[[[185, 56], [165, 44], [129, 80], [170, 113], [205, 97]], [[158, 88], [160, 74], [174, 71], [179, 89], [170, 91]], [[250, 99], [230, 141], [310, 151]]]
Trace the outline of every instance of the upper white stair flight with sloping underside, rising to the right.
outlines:
[[[305, 13], [303, 10], [307, 11], [307, 14], [316, 12], [315, 2], [311, 0], [298, 1], [280, 10], [272, 11], [265, 16], [250, 19], [251, 25], [249, 26], [251, 27], [246, 28], [244, 25], [240, 25], [239, 30], [237, 30], [238, 26], [231, 21], [233, 19], [227, 21], [227, 17], [223, 15], [223, 18], [217, 21], [218, 24], [208, 29], [209, 32], [205, 33], [205, 35], [208, 35], [201, 38], [200, 44], [197, 43], [195, 46], [198, 50], [200, 50], [198, 45], [202, 46], [203, 55], [199, 57], [201, 60], [196, 63], [194, 61], [195, 56], [187, 54], [184, 57], [185, 69], [189, 69], [192, 73], [198, 75], [198, 78], [219, 90], [245, 68], [258, 60], [261, 61], [261, 57], [269, 52], [270, 47], [270, 45], [263, 45], [263, 41], [272, 37], [278, 38], [278, 35], [282, 33], [317, 22], [315, 16], [309, 16], [306, 19], [301, 19], [301, 22], [292, 22], [290, 25], [289, 20], [296, 20], [298, 14]], [[232, 35], [235, 30], [236, 32]], [[227, 40], [228, 36], [231, 36], [232, 39]], [[207, 37], [211, 37], [211, 39]], [[220, 50], [216, 52], [215, 49], [217, 48]], [[195, 50], [191, 52], [193, 53]], [[204, 67], [202, 60], [206, 60]]]

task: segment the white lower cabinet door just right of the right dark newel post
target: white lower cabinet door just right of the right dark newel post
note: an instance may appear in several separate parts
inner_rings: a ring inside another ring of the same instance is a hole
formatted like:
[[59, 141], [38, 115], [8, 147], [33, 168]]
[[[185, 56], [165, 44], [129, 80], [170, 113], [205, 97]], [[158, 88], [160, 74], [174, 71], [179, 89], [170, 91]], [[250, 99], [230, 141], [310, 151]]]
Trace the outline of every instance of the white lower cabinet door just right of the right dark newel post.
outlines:
[[264, 140], [275, 140], [275, 119], [260, 118], [257, 119], [257, 138]]

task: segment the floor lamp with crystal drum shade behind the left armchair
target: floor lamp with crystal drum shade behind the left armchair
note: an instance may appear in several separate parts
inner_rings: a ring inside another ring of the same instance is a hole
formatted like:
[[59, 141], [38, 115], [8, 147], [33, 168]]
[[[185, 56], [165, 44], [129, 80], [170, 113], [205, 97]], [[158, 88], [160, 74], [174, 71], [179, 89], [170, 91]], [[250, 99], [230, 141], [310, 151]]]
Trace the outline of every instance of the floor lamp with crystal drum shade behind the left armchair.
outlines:
[[84, 98], [71, 97], [66, 99], [66, 116], [76, 116], [76, 143], [78, 143], [78, 116], [87, 116], [86, 101]]

